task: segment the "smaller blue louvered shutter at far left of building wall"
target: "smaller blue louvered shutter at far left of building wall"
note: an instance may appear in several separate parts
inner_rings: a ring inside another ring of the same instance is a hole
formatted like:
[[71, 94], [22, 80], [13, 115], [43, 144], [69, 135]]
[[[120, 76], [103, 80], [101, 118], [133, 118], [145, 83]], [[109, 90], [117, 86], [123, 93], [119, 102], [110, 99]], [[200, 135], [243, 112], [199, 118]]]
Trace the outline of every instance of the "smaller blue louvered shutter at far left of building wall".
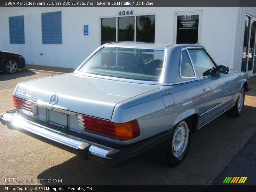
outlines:
[[10, 44], [24, 44], [24, 16], [9, 17]]

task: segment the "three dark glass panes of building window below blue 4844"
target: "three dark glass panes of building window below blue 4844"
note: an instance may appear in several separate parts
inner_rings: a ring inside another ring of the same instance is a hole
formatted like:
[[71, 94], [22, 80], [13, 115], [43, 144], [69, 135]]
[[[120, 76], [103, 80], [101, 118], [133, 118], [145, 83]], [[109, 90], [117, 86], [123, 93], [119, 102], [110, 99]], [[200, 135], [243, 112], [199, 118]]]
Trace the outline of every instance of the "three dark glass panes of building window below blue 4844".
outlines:
[[155, 15], [102, 18], [101, 44], [113, 41], [154, 43]]

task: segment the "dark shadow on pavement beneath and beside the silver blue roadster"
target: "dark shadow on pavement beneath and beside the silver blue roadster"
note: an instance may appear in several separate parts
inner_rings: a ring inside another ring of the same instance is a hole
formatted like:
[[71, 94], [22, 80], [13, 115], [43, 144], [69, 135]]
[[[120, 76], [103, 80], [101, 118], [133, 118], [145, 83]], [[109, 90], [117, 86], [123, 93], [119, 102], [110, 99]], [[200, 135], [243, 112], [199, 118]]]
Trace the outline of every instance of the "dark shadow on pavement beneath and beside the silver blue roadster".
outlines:
[[62, 179], [43, 185], [209, 185], [255, 133], [255, 115], [255, 107], [244, 106], [239, 118], [224, 114], [199, 129], [192, 134], [185, 160], [175, 168], [156, 164], [150, 154], [115, 168], [75, 156], [37, 178]]

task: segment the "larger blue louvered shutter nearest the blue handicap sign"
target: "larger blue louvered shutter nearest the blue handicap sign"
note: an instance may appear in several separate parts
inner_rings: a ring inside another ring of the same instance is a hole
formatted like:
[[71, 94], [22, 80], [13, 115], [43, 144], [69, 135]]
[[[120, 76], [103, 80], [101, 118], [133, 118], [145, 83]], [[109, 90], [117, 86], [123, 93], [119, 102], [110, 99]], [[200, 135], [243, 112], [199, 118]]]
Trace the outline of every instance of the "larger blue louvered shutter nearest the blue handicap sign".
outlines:
[[42, 13], [43, 44], [61, 44], [61, 11]]

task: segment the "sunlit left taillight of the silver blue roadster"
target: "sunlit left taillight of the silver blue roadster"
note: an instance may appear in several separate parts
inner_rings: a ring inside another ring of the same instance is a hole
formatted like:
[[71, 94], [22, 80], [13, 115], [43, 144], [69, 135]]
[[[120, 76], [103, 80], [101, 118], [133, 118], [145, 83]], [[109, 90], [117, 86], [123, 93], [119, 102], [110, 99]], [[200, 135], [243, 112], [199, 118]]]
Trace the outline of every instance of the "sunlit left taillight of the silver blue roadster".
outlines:
[[29, 100], [12, 95], [14, 107], [28, 115], [37, 115], [37, 106]]

